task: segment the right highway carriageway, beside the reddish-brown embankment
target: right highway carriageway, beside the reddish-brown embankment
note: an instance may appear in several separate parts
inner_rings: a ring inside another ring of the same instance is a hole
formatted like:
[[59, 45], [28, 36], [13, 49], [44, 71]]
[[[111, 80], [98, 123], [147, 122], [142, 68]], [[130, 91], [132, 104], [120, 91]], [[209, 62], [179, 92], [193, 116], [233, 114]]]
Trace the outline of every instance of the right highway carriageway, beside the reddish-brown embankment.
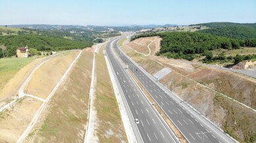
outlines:
[[[131, 61], [123, 51], [120, 51], [117, 47], [117, 41], [113, 45], [119, 57], [129, 66], [131, 72], [143, 84], [146, 91], [172, 120], [188, 142], [235, 142], [189, 106], [186, 106], [185, 103], [172, 98], [174, 95], [170, 95], [166, 90], [163, 90], [137, 63]], [[125, 77], [123, 78], [125, 80]], [[126, 87], [125, 90], [133, 90], [133, 87]]]

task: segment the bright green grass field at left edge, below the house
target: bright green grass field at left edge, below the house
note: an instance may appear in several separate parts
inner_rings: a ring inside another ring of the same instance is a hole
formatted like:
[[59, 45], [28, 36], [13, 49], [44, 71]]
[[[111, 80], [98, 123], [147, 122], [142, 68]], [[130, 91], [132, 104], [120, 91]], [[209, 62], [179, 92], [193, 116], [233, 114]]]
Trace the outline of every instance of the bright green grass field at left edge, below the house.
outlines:
[[0, 89], [13, 78], [22, 67], [34, 61], [33, 58], [4, 58], [0, 59]]

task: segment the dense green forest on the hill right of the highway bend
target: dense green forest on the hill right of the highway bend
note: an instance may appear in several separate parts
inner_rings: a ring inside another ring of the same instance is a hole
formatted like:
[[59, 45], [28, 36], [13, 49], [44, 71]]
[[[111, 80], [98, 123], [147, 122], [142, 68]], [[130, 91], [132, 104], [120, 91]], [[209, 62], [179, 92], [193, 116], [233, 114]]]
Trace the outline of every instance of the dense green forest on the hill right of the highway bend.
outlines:
[[[212, 34], [200, 32], [166, 32], [152, 33], [133, 36], [131, 40], [141, 37], [160, 36], [161, 49], [156, 55], [166, 55], [168, 58], [187, 59], [189, 61], [196, 57], [205, 55], [205, 62], [224, 61], [228, 57], [220, 54], [213, 57], [210, 51], [216, 49], [238, 49], [240, 47], [256, 47], [256, 39], [237, 40]], [[208, 55], [208, 56], [207, 56]], [[229, 57], [234, 60], [234, 57]], [[249, 58], [255, 59], [255, 55]], [[241, 59], [241, 58], [240, 58]]]

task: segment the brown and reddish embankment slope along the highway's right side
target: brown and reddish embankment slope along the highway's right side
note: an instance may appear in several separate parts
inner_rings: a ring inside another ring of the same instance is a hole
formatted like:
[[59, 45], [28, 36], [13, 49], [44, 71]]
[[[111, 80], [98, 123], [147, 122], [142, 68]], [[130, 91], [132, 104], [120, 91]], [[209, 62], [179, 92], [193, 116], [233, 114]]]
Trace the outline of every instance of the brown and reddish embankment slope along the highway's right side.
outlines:
[[[140, 54], [125, 45], [122, 49], [134, 61], [141, 63], [141, 66], [151, 75], [162, 69], [163, 66], [170, 67], [173, 71], [160, 80], [162, 84], [193, 105], [238, 141], [255, 142], [256, 113], [200, 84], [203, 83], [218, 92], [255, 108], [255, 80], [231, 72], [198, 65], [187, 65], [173, 59], [154, 55], [140, 57]], [[162, 65], [156, 61], [162, 63]], [[246, 125], [244, 121], [246, 121]]]

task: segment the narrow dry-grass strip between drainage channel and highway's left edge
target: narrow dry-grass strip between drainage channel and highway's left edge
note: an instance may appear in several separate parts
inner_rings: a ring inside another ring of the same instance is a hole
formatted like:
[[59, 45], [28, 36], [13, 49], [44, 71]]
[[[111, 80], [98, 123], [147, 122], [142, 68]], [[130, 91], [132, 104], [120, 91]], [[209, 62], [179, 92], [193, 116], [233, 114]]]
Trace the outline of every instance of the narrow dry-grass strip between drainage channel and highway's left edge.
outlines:
[[99, 138], [99, 142], [127, 142], [102, 50], [100, 54], [96, 55], [95, 95], [94, 105], [96, 106], [98, 122], [96, 125], [96, 135]]

